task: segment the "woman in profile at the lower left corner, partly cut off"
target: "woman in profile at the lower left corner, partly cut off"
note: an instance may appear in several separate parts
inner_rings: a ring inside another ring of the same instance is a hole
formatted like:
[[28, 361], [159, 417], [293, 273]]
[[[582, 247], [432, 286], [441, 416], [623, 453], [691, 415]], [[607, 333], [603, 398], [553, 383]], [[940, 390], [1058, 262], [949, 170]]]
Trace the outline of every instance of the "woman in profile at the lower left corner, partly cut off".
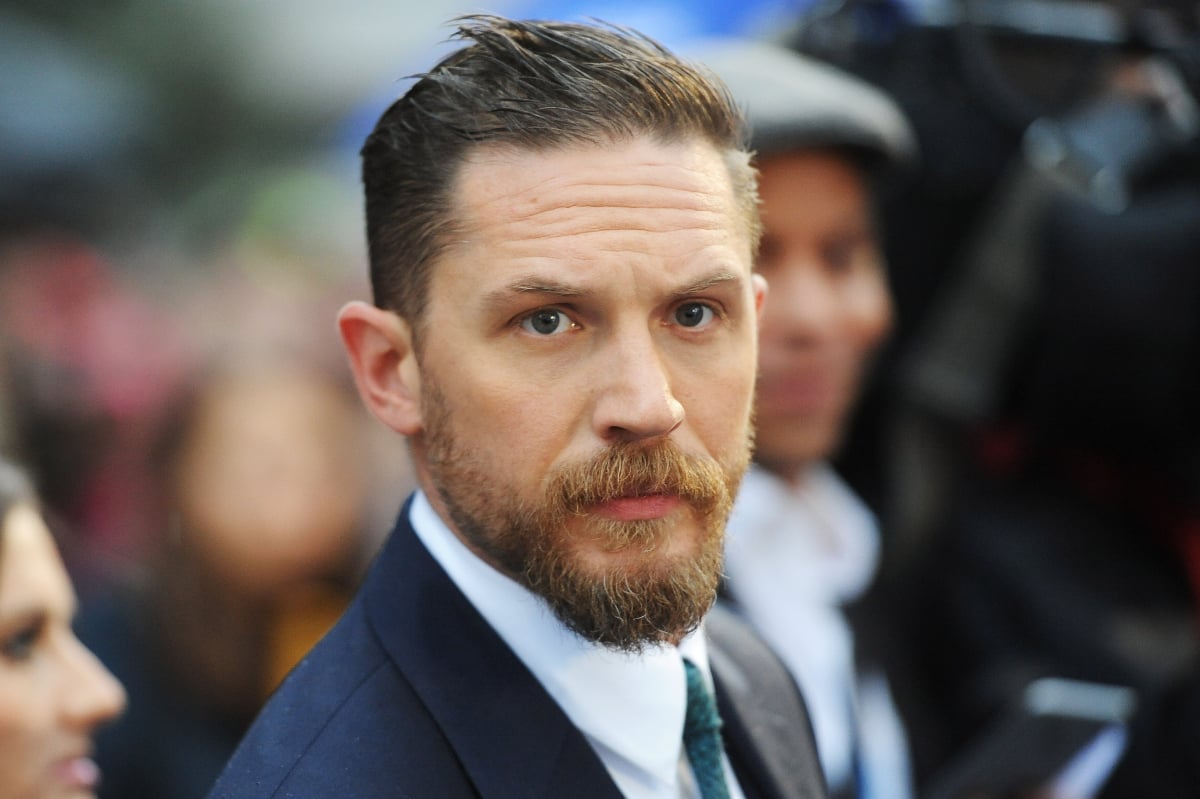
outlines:
[[95, 797], [92, 733], [121, 684], [72, 631], [76, 595], [32, 488], [0, 458], [0, 795]]

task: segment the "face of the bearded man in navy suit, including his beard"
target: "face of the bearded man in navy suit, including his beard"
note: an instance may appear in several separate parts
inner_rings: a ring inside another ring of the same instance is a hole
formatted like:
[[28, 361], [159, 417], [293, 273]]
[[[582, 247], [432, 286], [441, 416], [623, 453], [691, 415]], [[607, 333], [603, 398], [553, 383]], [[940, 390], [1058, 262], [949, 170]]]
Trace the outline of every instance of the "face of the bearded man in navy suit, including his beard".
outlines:
[[420, 324], [418, 469], [581, 635], [673, 641], [715, 595], [749, 459], [746, 220], [703, 143], [484, 149]]

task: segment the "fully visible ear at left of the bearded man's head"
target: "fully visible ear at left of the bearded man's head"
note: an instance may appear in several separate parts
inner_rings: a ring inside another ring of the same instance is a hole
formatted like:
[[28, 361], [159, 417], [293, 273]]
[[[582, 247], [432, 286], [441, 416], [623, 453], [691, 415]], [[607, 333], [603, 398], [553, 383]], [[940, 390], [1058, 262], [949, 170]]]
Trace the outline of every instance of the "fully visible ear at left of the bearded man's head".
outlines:
[[421, 429], [421, 373], [413, 331], [397, 313], [361, 301], [337, 314], [362, 402], [379, 421], [402, 435]]

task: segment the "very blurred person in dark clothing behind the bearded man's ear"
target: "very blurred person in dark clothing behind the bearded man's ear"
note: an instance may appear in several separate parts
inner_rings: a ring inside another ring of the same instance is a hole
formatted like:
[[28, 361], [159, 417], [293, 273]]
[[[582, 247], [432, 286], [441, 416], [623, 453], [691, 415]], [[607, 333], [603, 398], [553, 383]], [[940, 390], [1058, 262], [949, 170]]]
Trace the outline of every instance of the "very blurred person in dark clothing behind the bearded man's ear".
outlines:
[[180, 397], [156, 459], [163, 535], [79, 620], [132, 697], [96, 741], [100, 799], [204, 797], [344, 609], [373, 546], [367, 422], [340, 372], [274, 353], [218, 355]]

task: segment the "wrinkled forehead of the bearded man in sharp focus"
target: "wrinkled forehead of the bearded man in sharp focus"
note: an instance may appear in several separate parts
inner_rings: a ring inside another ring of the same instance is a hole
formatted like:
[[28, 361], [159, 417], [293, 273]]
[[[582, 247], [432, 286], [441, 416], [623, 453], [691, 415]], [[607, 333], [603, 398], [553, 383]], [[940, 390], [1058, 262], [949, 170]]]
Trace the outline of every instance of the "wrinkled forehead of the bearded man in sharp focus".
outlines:
[[730, 167], [700, 139], [482, 146], [463, 163], [454, 196], [461, 235], [451, 252], [749, 251], [750, 223], [739, 212]]

